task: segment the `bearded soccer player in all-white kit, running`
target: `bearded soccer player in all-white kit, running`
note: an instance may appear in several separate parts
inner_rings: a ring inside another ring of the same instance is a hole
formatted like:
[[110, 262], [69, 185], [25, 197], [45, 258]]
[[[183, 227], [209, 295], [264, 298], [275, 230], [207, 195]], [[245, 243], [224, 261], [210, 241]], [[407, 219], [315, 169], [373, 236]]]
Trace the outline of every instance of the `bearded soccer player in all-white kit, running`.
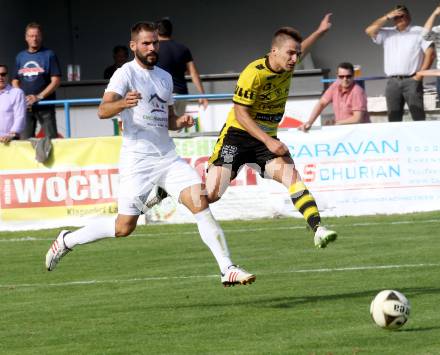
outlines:
[[46, 268], [53, 270], [78, 244], [130, 235], [145, 211], [149, 193], [158, 185], [193, 213], [200, 236], [219, 265], [223, 285], [252, 283], [255, 275], [231, 261], [223, 231], [202, 192], [201, 178], [177, 155], [168, 134], [168, 129], [190, 127], [194, 121], [189, 115], [174, 114], [171, 75], [155, 66], [158, 47], [153, 24], [134, 25], [130, 48], [135, 59], [114, 73], [99, 105], [100, 118], [120, 114], [124, 126], [116, 220], [95, 221], [74, 232], [61, 231], [46, 254]]

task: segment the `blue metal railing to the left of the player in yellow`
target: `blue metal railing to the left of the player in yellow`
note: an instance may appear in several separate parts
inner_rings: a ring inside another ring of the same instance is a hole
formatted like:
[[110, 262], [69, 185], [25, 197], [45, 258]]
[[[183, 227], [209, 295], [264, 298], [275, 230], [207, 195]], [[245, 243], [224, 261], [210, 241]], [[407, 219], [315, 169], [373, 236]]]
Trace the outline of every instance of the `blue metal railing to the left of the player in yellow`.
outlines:
[[[208, 99], [208, 100], [222, 100], [231, 99], [232, 94], [205, 94], [205, 95], [175, 95], [175, 100], [196, 100], [196, 99]], [[64, 106], [64, 122], [66, 124], [66, 138], [71, 137], [70, 129], [70, 106], [83, 105], [83, 104], [100, 104], [100, 98], [97, 99], [67, 99], [67, 100], [47, 100], [40, 101], [38, 105], [55, 105]]]

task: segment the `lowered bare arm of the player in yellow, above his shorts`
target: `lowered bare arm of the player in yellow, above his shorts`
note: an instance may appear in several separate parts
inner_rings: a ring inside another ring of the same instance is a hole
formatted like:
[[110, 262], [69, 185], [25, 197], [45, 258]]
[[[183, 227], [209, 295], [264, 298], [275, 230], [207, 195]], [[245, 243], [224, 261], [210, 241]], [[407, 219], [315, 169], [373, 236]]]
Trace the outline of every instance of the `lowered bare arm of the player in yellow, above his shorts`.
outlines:
[[248, 107], [234, 104], [234, 110], [235, 117], [237, 117], [237, 121], [243, 126], [243, 128], [252, 137], [263, 142], [267, 149], [269, 149], [272, 153], [282, 156], [289, 152], [289, 149], [283, 142], [280, 142], [278, 139], [269, 136], [260, 127], [258, 127], [255, 121], [252, 119]]

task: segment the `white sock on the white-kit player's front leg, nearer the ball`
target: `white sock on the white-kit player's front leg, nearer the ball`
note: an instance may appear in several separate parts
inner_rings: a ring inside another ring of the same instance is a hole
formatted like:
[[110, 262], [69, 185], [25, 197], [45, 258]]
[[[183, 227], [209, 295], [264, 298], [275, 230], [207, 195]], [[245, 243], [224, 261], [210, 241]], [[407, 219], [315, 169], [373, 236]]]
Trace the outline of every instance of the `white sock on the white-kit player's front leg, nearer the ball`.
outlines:
[[223, 230], [214, 219], [209, 208], [194, 214], [194, 217], [203, 242], [208, 246], [212, 254], [214, 254], [220, 271], [223, 272], [233, 264]]

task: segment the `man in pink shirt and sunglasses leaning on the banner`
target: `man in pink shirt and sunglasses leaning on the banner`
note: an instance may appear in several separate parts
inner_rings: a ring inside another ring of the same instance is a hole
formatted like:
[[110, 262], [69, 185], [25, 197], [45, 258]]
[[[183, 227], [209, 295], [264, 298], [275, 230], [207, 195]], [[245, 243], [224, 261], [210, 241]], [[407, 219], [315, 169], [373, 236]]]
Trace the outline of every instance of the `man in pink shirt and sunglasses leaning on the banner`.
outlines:
[[354, 68], [351, 63], [341, 63], [337, 69], [338, 79], [325, 91], [313, 108], [307, 122], [298, 127], [308, 131], [321, 112], [330, 103], [333, 105], [334, 119], [326, 124], [368, 123], [367, 95], [354, 81]]

